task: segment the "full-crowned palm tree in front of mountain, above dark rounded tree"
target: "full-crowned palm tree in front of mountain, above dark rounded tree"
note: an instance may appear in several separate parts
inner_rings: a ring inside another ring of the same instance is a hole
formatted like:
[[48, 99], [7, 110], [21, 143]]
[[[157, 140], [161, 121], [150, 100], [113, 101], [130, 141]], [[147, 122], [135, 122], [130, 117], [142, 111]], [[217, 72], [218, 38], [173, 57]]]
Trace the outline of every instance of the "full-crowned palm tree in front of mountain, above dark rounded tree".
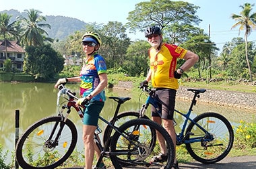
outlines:
[[29, 46], [42, 46], [44, 41], [53, 42], [53, 39], [47, 38], [48, 33], [43, 30], [43, 27], [51, 29], [51, 25], [48, 23], [42, 23], [46, 21], [46, 17], [41, 16], [41, 11], [30, 9], [25, 10], [28, 18], [20, 16], [19, 20], [23, 23], [24, 34], [22, 35], [22, 43]]

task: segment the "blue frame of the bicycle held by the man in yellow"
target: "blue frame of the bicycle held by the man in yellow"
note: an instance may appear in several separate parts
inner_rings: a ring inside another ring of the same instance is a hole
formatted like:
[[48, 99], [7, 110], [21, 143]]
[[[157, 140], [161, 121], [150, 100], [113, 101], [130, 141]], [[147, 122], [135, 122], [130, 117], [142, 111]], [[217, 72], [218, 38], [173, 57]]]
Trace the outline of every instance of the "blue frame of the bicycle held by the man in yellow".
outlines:
[[[203, 89], [204, 90], [204, 89]], [[160, 103], [160, 101], [158, 100], [157, 97], [155, 97], [155, 92], [156, 92], [156, 89], [147, 89], [147, 87], [143, 87], [143, 91], [146, 91], [149, 95], [148, 95], [148, 98], [146, 99], [146, 103], [144, 103], [142, 106], [141, 106], [141, 109], [139, 110], [139, 115], [140, 117], [143, 117], [144, 113], [146, 112], [146, 109], [148, 109], [148, 106], [149, 105], [152, 105], [156, 108], [156, 111], [158, 113], [158, 115], [161, 115], [161, 109], [160, 107], [158, 106], [158, 104]], [[203, 91], [204, 92], [204, 91]], [[203, 93], [202, 92], [202, 93]], [[193, 97], [193, 100], [191, 102], [191, 105], [189, 107], [189, 111], [187, 111], [187, 113], [181, 113], [181, 111], [178, 111], [177, 109], [174, 109], [174, 112], [176, 113], [179, 113], [180, 115], [182, 115], [183, 117], [185, 117], [185, 122], [183, 123], [183, 127], [181, 128], [181, 133], [179, 133], [179, 135], [177, 135], [176, 133], [176, 139], [177, 139], [177, 145], [181, 145], [181, 144], [191, 144], [191, 143], [194, 143], [194, 142], [201, 142], [201, 137], [194, 137], [194, 138], [190, 138], [190, 139], [187, 139], [189, 137], [189, 134], [190, 133], [185, 133], [185, 129], [187, 129], [187, 125], [189, 123], [189, 121], [191, 123], [194, 123], [195, 125], [197, 125], [197, 127], [199, 127], [199, 129], [201, 129], [204, 133], [207, 134], [207, 138], [208, 139], [205, 139], [205, 141], [212, 141], [214, 139], [214, 137], [212, 137], [211, 133], [209, 133], [208, 131], [206, 131], [203, 127], [201, 127], [201, 125], [199, 125], [198, 123], [195, 123], [195, 121], [193, 119], [190, 118], [190, 115], [191, 115], [191, 112], [192, 112], [192, 108], [193, 108], [193, 105], [196, 104], [196, 97], [199, 98], [199, 93], [196, 93], [195, 92], [195, 95]]]

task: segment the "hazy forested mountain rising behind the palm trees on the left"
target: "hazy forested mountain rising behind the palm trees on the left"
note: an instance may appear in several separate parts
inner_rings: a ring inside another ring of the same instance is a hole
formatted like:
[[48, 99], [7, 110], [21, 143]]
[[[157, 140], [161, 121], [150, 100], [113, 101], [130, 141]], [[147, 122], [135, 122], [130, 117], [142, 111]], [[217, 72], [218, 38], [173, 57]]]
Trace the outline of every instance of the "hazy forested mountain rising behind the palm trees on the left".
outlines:
[[[16, 17], [23, 15], [26, 17], [26, 13], [17, 11], [15, 9], [0, 11], [0, 13], [7, 13], [8, 15], [12, 15], [11, 21], [15, 21]], [[73, 32], [77, 30], [83, 30], [87, 23], [84, 21], [80, 21], [79, 19], [75, 19], [72, 17], [64, 17], [64, 16], [53, 16], [46, 15], [46, 23], [51, 25], [51, 30], [44, 28], [46, 32], [49, 34], [50, 38], [54, 38], [56, 40], [63, 40]]]

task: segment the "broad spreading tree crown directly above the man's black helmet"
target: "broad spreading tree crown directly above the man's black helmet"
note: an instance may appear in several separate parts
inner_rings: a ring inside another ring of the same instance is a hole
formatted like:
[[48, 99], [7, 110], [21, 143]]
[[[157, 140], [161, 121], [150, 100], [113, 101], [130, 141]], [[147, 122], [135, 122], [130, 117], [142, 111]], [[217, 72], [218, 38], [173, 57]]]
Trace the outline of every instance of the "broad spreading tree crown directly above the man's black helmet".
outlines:
[[143, 32], [149, 25], [159, 25], [161, 30], [174, 23], [198, 24], [199, 17], [195, 15], [199, 7], [183, 2], [170, 0], [151, 0], [137, 3], [135, 10], [129, 12], [127, 26], [130, 30]]

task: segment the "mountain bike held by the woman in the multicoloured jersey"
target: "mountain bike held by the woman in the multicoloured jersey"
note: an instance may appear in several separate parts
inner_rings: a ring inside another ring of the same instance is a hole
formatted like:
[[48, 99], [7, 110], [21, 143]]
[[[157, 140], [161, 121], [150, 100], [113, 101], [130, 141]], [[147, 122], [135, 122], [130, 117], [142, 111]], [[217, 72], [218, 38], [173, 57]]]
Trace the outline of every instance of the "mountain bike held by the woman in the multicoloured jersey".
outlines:
[[[65, 99], [61, 104], [59, 104], [60, 97]], [[59, 86], [57, 98], [58, 115], [36, 121], [18, 140], [15, 158], [22, 168], [57, 168], [73, 152], [77, 143], [77, 129], [69, 119], [69, 114], [73, 108], [83, 121], [86, 105], [77, 107], [75, 103], [78, 98], [64, 84]], [[104, 136], [108, 140], [102, 145], [98, 135], [99, 129], [97, 128], [94, 133], [94, 141], [101, 152], [96, 168], [102, 158], [110, 158], [115, 168], [122, 168], [127, 164], [171, 168], [174, 162], [174, 144], [164, 127], [150, 119], [142, 118], [131, 119], [119, 127], [115, 126], [115, 117], [119, 113], [119, 108], [131, 98], [109, 97], [109, 99], [117, 101], [117, 108], [111, 122], [100, 116], [100, 120], [109, 126], [108, 131], [104, 131]], [[167, 145], [168, 159], [163, 163], [151, 162], [152, 156], [160, 153], [156, 132], [162, 134]]]

